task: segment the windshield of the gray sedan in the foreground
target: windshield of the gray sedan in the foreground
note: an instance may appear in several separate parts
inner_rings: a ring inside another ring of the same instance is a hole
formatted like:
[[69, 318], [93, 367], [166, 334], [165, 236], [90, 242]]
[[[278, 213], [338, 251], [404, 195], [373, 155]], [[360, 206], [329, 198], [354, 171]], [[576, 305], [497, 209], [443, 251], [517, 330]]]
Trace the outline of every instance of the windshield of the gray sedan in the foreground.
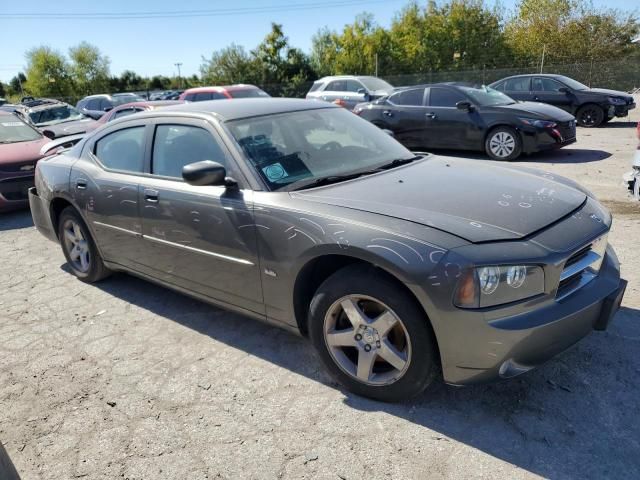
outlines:
[[415, 158], [375, 125], [342, 108], [227, 122], [271, 190], [294, 190]]

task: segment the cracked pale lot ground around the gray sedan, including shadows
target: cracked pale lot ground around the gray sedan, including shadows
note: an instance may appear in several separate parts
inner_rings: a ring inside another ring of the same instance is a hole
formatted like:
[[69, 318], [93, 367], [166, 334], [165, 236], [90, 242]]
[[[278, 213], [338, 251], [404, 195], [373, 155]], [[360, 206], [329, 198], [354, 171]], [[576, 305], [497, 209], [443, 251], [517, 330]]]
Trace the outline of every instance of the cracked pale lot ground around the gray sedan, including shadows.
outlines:
[[342, 391], [287, 332], [124, 274], [85, 285], [28, 212], [3, 215], [0, 468], [25, 480], [640, 478], [640, 205], [621, 182], [632, 125], [580, 129], [572, 147], [520, 162], [614, 212], [629, 288], [609, 330], [518, 379], [438, 384], [406, 404]]

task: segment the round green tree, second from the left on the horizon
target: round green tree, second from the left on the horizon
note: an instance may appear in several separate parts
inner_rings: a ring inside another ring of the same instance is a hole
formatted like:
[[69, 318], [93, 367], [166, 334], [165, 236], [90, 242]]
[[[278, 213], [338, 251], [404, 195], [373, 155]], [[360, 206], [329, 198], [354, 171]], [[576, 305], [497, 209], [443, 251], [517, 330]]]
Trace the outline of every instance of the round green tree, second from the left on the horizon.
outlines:
[[78, 96], [104, 92], [109, 88], [109, 58], [98, 47], [82, 42], [69, 49], [70, 73]]

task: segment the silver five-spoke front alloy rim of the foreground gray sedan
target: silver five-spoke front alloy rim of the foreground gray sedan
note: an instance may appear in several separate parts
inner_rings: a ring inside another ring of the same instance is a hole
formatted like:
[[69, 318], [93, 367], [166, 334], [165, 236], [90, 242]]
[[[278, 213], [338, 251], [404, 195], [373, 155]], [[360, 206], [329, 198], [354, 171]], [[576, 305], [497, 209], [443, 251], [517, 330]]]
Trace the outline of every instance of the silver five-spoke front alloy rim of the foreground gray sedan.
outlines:
[[324, 340], [340, 369], [366, 385], [396, 382], [411, 362], [411, 340], [402, 320], [372, 297], [337, 300], [324, 319]]

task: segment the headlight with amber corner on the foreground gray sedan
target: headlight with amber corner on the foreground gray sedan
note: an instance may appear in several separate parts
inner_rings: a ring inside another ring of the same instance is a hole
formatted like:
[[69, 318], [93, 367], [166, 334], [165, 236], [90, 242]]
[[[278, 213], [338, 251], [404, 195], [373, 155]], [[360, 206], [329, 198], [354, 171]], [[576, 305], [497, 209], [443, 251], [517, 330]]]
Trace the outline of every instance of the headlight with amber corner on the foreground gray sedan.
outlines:
[[544, 292], [544, 270], [535, 265], [490, 265], [460, 277], [454, 304], [461, 308], [494, 307]]

